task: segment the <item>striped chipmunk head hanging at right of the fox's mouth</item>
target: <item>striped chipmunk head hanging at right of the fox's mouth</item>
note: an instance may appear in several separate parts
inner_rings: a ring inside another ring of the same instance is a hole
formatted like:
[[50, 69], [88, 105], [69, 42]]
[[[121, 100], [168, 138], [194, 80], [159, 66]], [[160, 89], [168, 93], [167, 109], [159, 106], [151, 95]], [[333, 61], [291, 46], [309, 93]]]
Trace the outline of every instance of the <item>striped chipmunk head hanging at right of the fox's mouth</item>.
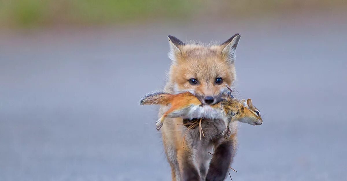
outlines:
[[245, 115], [240, 119], [240, 121], [251, 125], [263, 124], [263, 119], [260, 116], [260, 112], [255, 106], [253, 106], [252, 99], [247, 99], [247, 101], [242, 99], [242, 102], [244, 103], [246, 111], [244, 112]]

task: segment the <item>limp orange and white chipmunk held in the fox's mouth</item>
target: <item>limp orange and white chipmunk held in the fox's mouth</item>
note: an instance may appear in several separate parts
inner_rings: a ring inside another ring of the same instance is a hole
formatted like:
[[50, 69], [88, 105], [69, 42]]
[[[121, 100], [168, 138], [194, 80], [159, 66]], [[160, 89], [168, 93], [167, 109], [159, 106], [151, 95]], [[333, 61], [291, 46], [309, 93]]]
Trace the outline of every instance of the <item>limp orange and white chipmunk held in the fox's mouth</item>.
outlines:
[[252, 99], [238, 100], [232, 96], [231, 88], [226, 85], [230, 92], [223, 92], [220, 100], [214, 105], [203, 105], [198, 98], [190, 92], [169, 94], [165, 92], [153, 92], [142, 97], [140, 105], [164, 105], [171, 107], [156, 121], [156, 129], [159, 130], [165, 118], [183, 119], [222, 119], [226, 125], [222, 135], [230, 137], [230, 123], [239, 120], [251, 125], [261, 125], [263, 120], [259, 110], [253, 106]]

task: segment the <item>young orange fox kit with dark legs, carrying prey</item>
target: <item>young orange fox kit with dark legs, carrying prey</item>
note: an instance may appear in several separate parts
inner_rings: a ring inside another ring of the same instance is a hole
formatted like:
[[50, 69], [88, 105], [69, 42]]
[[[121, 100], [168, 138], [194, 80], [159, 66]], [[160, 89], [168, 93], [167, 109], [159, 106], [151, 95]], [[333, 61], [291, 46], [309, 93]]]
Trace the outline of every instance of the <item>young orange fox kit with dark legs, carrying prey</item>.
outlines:
[[[235, 34], [221, 44], [203, 45], [184, 43], [175, 36], [168, 36], [171, 60], [167, 82], [163, 92], [193, 94], [203, 106], [218, 102], [225, 84], [232, 86], [236, 80], [236, 48], [241, 35]], [[197, 102], [198, 103], [198, 102]], [[161, 105], [158, 118], [170, 109]], [[239, 121], [230, 123], [231, 135], [225, 138], [223, 120], [204, 119], [201, 127], [205, 137], [198, 140], [197, 130], [189, 131], [179, 126], [182, 117], [167, 117], [160, 128], [164, 153], [171, 167], [173, 181], [222, 181], [226, 178], [237, 150], [237, 127]], [[213, 156], [208, 152], [213, 152]]]

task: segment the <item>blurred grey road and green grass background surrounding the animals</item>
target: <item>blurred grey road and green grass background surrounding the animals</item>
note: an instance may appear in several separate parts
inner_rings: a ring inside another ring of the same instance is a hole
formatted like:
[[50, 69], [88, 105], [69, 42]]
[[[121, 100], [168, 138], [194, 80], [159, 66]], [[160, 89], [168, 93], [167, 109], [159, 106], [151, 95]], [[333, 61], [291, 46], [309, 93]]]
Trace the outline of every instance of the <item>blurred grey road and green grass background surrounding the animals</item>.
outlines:
[[[242, 180], [346, 180], [344, 0], [1, 0], [0, 180], [170, 180], [157, 108], [167, 35], [242, 34], [239, 96], [264, 124], [240, 124]], [[229, 180], [229, 178], [227, 178]]]

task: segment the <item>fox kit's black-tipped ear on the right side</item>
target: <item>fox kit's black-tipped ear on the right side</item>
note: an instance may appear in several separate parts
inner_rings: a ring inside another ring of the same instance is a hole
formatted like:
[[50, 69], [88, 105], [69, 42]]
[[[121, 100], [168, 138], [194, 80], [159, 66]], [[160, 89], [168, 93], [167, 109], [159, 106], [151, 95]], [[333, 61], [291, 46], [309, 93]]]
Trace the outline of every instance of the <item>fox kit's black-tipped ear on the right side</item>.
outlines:
[[235, 51], [240, 38], [241, 35], [237, 33], [220, 45], [223, 48], [222, 56], [224, 56], [229, 63], [235, 62]]

